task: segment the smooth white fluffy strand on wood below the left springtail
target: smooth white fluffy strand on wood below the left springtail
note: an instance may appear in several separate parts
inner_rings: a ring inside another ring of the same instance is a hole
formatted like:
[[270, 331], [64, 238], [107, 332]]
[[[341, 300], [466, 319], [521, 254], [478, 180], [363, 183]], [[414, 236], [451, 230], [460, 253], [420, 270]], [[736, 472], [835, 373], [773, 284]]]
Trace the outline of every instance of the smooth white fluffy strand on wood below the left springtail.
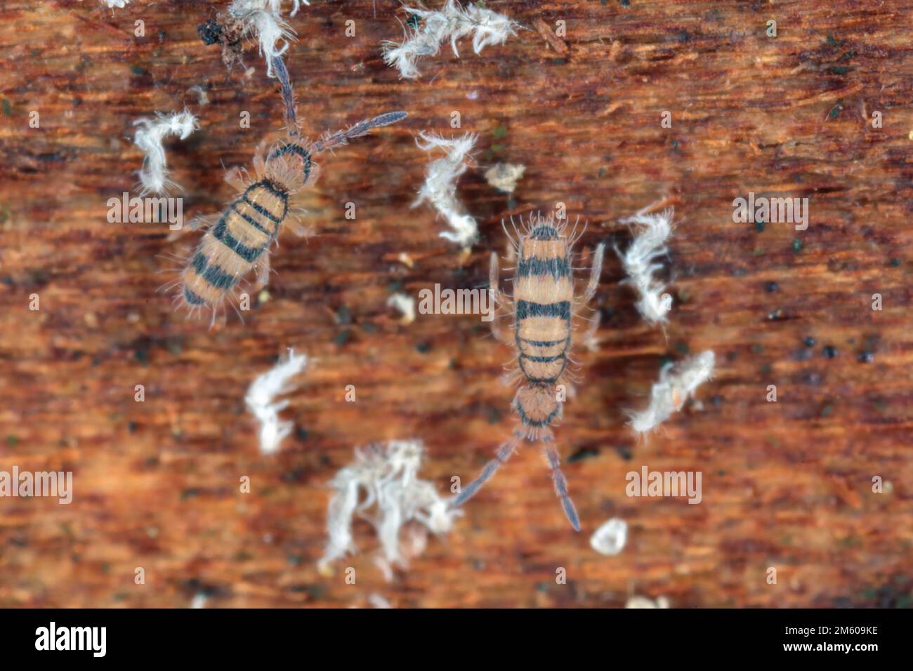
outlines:
[[273, 403], [273, 399], [294, 389], [289, 380], [303, 371], [307, 363], [307, 356], [295, 354], [289, 349], [288, 357], [280, 359], [268, 372], [258, 376], [247, 389], [244, 401], [247, 409], [260, 422], [260, 452], [264, 455], [277, 452], [293, 426], [291, 422], [279, 420], [279, 412], [289, 406], [289, 401]]

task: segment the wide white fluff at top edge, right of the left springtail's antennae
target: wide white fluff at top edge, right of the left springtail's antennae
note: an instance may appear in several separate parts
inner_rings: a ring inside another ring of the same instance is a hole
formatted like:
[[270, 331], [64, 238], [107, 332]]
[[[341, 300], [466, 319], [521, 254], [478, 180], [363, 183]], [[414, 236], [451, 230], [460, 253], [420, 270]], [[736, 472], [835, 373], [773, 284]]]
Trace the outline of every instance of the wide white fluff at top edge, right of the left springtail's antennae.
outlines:
[[400, 72], [400, 77], [415, 79], [420, 75], [416, 61], [425, 56], [436, 56], [441, 44], [450, 40], [454, 55], [459, 58], [456, 41], [472, 35], [472, 48], [478, 54], [484, 47], [504, 44], [516, 35], [519, 24], [507, 16], [485, 9], [480, 5], [466, 8], [456, 0], [447, 0], [437, 11], [404, 6], [409, 14], [418, 16], [423, 26], [406, 28], [403, 42], [384, 40], [383, 61]]

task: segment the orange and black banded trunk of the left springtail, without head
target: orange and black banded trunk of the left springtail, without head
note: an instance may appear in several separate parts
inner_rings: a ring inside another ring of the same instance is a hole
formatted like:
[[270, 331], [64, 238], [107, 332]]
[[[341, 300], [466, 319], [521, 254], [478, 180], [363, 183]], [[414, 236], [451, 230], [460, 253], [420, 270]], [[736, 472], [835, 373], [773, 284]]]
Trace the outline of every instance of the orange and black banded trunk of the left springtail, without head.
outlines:
[[289, 193], [269, 179], [247, 187], [206, 231], [184, 268], [184, 300], [191, 307], [218, 305], [269, 253], [289, 211]]

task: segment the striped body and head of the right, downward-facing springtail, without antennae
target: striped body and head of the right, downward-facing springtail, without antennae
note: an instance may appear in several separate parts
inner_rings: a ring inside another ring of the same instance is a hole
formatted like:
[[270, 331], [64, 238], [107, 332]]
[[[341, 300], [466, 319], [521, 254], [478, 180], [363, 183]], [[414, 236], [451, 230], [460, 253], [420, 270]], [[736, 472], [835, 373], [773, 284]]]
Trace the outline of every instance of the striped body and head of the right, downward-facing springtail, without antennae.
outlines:
[[556, 385], [571, 349], [573, 277], [567, 236], [540, 223], [519, 241], [514, 278], [514, 338], [525, 379], [514, 400], [524, 425], [545, 427], [561, 416]]

